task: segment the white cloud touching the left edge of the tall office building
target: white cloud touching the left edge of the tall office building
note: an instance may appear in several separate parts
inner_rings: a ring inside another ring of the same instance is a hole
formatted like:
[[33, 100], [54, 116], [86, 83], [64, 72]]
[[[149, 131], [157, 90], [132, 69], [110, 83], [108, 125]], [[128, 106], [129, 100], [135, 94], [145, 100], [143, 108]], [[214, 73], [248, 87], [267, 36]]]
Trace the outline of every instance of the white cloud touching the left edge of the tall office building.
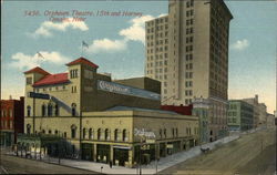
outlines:
[[130, 28], [120, 31], [120, 35], [125, 37], [126, 40], [141, 41], [145, 43], [145, 22], [154, 19], [152, 16], [142, 16], [130, 21]]

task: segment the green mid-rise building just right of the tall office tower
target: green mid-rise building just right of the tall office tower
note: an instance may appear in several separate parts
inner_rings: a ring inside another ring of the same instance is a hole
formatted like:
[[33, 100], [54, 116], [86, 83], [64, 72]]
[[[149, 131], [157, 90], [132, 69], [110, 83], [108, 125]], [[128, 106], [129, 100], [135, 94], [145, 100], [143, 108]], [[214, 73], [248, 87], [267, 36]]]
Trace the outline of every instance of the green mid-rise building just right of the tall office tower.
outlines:
[[242, 100], [230, 100], [228, 105], [228, 127], [230, 131], [246, 131], [254, 127], [254, 107]]

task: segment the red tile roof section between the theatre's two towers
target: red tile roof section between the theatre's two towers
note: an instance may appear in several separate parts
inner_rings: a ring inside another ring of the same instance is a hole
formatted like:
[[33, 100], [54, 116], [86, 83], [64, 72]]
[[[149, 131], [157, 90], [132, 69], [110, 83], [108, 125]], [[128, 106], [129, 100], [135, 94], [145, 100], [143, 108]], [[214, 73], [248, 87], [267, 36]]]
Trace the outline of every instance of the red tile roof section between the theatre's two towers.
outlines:
[[33, 86], [61, 84], [66, 82], [69, 82], [68, 73], [58, 73], [44, 76], [43, 79], [35, 82]]

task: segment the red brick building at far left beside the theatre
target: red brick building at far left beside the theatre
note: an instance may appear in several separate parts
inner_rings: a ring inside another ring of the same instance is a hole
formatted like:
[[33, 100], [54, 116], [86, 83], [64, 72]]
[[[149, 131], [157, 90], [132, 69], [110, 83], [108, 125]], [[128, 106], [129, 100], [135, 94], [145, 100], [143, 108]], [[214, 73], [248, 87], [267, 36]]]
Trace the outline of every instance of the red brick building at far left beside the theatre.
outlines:
[[24, 132], [24, 97], [1, 100], [0, 133], [1, 146], [17, 142], [18, 133]]

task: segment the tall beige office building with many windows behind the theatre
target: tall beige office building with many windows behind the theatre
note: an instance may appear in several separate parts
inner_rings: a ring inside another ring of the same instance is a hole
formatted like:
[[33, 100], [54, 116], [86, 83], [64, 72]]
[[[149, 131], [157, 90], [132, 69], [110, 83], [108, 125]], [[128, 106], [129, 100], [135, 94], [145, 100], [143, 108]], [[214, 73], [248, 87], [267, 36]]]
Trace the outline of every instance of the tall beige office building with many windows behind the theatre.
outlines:
[[168, 16], [145, 24], [145, 75], [162, 82], [162, 104], [207, 99], [211, 141], [227, 127], [232, 19], [223, 0], [171, 0]]

